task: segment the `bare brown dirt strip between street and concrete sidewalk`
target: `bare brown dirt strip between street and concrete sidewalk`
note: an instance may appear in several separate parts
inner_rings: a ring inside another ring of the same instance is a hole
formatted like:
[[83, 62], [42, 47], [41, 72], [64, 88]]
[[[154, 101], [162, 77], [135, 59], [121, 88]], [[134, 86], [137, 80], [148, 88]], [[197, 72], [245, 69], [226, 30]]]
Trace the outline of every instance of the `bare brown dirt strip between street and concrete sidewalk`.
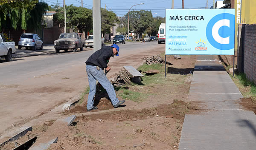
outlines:
[[49, 150], [177, 150], [185, 114], [199, 113], [197, 102], [186, 102], [195, 58], [168, 56], [173, 65], [168, 66], [164, 84], [129, 86], [131, 91], [148, 94], [140, 102], [126, 99], [124, 107], [114, 109], [107, 98], [99, 96], [99, 109], [87, 112], [84, 100], [62, 114], [76, 114], [73, 125], [38, 125], [33, 133], [48, 139], [58, 136]]

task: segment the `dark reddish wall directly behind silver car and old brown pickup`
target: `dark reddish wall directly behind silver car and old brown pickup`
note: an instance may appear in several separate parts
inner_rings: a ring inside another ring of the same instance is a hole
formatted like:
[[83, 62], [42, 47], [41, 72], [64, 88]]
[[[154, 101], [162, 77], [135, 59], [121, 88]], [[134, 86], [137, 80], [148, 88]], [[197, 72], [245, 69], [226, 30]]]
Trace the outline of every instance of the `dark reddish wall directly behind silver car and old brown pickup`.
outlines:
[[61, 33], [64, 33], [64, 28], [44, 28], [44, 44], [53, 44]]

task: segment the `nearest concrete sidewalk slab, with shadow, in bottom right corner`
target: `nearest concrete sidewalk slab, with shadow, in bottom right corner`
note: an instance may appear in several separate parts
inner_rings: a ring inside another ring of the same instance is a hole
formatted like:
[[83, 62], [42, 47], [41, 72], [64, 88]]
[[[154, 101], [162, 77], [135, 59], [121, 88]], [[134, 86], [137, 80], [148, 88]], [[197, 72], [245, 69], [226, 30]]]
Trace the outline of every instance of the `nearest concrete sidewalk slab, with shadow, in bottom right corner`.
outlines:
[[186, 115], [179, 150], [255, 150], [255, 114], [244, 110]]

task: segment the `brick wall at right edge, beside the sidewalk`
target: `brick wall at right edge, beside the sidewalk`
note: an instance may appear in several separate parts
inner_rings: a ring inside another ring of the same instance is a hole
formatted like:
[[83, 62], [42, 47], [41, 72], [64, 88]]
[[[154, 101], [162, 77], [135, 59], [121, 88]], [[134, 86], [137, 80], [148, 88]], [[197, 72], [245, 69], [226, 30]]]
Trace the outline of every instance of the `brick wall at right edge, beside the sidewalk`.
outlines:
[[256, 24], [245, 25], [244, 74], [256, 84]]

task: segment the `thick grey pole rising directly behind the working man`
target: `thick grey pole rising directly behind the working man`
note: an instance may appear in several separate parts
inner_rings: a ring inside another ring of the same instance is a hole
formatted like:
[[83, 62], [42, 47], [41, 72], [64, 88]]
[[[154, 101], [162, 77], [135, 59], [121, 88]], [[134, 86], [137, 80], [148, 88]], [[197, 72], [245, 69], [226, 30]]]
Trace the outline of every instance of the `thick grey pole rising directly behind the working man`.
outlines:
[[93, 52], [101, 49], [100, 0], [93, 0]]

